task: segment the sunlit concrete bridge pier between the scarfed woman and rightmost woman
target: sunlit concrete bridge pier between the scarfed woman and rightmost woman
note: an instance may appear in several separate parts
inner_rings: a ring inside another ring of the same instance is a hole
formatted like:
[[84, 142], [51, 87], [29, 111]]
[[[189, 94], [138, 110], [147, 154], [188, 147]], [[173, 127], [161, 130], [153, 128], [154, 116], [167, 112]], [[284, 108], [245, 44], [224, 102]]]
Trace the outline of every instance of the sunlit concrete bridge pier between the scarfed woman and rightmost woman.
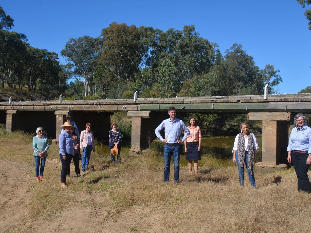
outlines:
[[269, 172], [288, 167], [287, 144], [290, 112], [250, 112], [249, 120], [262, 120], [262, 162], [257, 171]]

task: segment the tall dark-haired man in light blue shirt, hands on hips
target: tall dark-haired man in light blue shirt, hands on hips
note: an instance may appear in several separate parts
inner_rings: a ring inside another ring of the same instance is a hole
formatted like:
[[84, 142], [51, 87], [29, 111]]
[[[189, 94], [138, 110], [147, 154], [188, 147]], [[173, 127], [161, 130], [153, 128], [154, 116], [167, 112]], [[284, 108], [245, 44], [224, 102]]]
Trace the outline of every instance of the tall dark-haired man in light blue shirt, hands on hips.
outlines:
[[[182, 120], [176, 118], [176, 109], [169, 107], [169, 119], [162, 121], [156, 128], [156, 136], [164, 142], [164, 181], [169, 181], [169, 167], [171, 163], [171, 156], [174, 161], [174, 180], [179, 180], [179, 157], [180, 157], [180, 142], [183, 142], [190, 135], [190, 131]], [[164, 129], [165, 138], [160, 134]], [[185, 131], [185, 135], [180, 141], [181, 129]]]

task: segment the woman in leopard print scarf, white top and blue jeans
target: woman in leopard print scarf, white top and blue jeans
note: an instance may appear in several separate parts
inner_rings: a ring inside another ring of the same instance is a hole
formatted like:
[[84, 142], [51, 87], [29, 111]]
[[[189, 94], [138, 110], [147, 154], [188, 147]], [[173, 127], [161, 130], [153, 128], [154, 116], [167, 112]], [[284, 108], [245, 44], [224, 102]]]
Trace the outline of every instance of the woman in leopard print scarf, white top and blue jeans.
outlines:
[[253, 133], [248, 132], [248, 124], [242, 122], [241, 133], [236, 135], [233, 146], [233, 162], [236, 162], [239, 170], [239, 182], [244, 186], [244, 163], [246, 165], [248, 179], [252, 187], [256, 188], [253, 166], [255, 153], [258, 150], [258, 142]]

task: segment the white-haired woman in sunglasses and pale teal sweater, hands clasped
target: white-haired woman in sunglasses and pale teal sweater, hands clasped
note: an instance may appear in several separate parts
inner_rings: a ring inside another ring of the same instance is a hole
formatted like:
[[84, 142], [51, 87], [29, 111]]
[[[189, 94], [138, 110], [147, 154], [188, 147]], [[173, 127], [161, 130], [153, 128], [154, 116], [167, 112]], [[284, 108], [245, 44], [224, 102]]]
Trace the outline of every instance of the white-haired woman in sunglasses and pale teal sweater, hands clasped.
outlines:
[[[43, 171], [46, 157], [48, 157], [47, 150], [50, 148], [49, 139], [46, 135], [43, 135], [44, 130], [41, 127], [38, 127], [36, 130], [37, 135], [32, 139], [32, 148], [34, 149], [34, 158], [35, 158], [35, 174], [36, 182], [46, 181], [43, 179]], [[41, 162], [40, 162], [41, 160]], [[40, 177], [39, 177], [39, 167], [40, 168]]]

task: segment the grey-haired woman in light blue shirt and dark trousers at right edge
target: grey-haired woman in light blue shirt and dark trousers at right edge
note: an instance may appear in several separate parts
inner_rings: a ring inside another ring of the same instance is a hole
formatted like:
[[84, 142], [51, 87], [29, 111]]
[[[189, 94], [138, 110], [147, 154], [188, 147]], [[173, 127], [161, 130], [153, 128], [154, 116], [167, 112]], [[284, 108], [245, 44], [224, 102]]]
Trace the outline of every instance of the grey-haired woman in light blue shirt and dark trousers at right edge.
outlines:
[[298, 191], [311, 192], [308, 169], [311, 164], [311, 128], [306, 126], [306, 116], [298, 113], [294, 117], [296, 127], [290, 133], [287, 161], [293, 162], [298, 179]]

